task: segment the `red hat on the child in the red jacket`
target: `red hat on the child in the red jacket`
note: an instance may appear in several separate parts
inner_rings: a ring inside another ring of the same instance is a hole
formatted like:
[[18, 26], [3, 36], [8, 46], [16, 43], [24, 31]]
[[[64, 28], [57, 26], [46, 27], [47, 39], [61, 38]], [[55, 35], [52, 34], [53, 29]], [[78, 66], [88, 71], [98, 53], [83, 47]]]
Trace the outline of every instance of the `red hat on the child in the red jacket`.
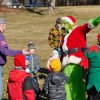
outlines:
[[14, 58], [15, 67], [22, 67], [22, 68], [26, 69], [27, 66], [25, 64], [25, 61], [26, 61], [26, 59], [23, 54], [16, 55]]

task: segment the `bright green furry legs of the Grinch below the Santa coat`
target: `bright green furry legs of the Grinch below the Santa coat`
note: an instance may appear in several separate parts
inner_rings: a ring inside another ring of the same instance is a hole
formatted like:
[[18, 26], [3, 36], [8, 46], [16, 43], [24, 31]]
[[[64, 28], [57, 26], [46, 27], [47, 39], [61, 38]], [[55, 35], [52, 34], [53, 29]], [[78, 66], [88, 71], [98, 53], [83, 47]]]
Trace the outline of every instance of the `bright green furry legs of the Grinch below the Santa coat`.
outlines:
[[77, 64], [68, 64], [64, 73], [69, 81], [65, 84], [66, 100], [86, 100], [83, 69]]

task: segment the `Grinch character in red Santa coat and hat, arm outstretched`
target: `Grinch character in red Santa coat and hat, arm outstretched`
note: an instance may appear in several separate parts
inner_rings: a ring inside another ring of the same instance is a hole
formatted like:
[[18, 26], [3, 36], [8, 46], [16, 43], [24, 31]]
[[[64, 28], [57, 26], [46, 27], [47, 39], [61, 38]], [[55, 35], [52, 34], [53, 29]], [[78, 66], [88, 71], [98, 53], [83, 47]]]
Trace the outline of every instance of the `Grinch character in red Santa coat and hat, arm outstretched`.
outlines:
[[61, 20], [62, 27], [66, 30], [62, 46], [62, 66], [69, 77], [69, 82], [65, 85], [66, 100], [86, 100], [83, 82], [83, 68], [88, 67], [88, 60], [84, 56], [87, 49], [86, 34], [100, 23], [100, 17], [93, 18], [81, 26], [76, 26], [76, 19], [72, 16], [62, 17]]

